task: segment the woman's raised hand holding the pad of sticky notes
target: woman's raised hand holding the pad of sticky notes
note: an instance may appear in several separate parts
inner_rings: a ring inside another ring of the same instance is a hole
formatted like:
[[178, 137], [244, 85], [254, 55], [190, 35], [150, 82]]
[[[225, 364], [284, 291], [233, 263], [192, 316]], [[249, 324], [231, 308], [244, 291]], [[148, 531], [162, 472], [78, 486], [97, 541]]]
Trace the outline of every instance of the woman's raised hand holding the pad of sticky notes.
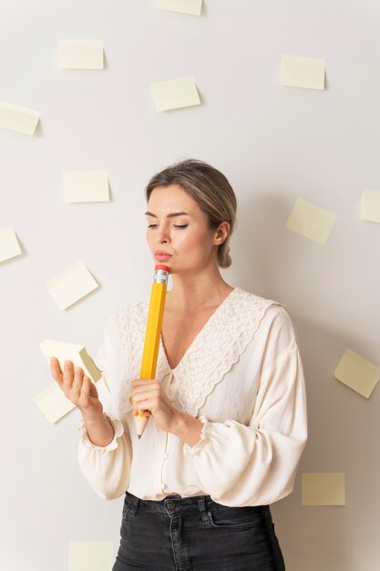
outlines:
[[98, 390], [80, 367], [74, 368], [71, 361], [65, 361], [62, 371], [56, 357], [50, 359], [50, 369], [53, 379], [64, 391], [65, 397], [76, 405], [82, 415], [97, 416], [103, 412], [103, 406], [98, 399]]

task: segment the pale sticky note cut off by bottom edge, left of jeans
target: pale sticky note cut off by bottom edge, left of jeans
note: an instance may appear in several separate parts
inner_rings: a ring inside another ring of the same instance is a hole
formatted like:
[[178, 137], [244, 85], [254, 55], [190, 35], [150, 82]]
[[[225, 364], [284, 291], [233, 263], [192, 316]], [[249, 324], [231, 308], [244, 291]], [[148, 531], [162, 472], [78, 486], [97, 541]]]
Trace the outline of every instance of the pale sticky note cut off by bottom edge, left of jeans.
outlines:
[[68, 571], [111, 571], [113, 551], [112, 541], [70, 541]]

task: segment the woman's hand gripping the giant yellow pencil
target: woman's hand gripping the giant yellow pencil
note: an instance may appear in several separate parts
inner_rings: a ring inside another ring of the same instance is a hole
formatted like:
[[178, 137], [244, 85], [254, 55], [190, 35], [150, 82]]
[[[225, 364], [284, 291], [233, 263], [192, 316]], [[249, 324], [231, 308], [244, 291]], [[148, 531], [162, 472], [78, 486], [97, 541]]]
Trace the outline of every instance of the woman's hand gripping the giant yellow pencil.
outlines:
[[173, 407], [161, 383], [157, 379], [137, 379], [131, 384], [130, 402], [133, 414], [152, 415], [161, 431], [172, 432], [180, 416]]

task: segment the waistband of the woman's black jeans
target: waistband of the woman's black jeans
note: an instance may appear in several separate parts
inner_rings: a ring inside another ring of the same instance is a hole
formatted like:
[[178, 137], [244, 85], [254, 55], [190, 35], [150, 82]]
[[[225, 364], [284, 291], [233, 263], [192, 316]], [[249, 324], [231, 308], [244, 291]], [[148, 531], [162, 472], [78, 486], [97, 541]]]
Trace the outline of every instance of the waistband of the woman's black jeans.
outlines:
[[[129, 511], [132, 514], [136, 514], [138, 511], [139, 506], [143, 507], [146, 510], [151, 510], [154, 512], [161, 512], [164, 514], [174, 513], [177, 514], [190, 514], [194, 512], [207, 512], [208, 510], [212, 510], [212, 508], [216, 507], [225, 507], [228, 509], [228, 506], [218, 504], [211, 500], [210, 495], [194, 495], [187, 498], [182, 498], [180, 495], [176, 494], [169, 494], [163, 500], [141, 500], [133, 493], [126, 492], [126, 504], [128, 504]], [[236, 509], [236, 508], [231, 508]], [[244, 507], [238, 509], [245, 509]], [[270, 514], [269, 506], [268, 505], [256, 505], [256, 506], [249, 506], [248, 509], [257, 511], [258, 514]]]

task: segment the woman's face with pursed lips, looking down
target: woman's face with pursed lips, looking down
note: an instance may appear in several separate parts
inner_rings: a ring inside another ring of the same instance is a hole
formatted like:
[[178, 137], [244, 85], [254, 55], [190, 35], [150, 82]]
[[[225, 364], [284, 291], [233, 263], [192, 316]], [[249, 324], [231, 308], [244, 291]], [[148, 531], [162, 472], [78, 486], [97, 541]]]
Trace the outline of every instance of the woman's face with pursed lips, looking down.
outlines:
[[201, 270], [217, 264], [223, 240], [210, 230], [197, 202], [177, 184], [158, 186], [150, 194], [147, 241], [155, 264], [168, 265], [170, 274]]

